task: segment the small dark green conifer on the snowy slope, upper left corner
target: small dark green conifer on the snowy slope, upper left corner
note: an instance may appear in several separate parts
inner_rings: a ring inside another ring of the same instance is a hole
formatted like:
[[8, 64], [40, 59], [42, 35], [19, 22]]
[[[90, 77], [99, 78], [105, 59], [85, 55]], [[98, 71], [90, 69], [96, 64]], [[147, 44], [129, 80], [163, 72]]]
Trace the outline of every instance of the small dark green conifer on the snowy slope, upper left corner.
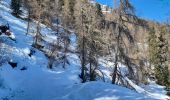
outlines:
[[12, 0], [11, 1], [11, 9], [12, 9], [12, 14], [19, 17], [21, 14], [21, 0]]

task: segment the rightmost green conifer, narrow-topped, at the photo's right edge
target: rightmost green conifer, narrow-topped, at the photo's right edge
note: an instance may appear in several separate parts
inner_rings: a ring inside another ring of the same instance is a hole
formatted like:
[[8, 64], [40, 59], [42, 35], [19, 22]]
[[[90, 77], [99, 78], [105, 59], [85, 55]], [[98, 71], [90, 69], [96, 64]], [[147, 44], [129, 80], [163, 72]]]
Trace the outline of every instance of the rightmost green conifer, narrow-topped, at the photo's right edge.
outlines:
[[164, 28], [160, 28], [161, 33], [158, 37], [157, 65], [155, 66], [155, 76], [157, 83], [170, 86], [170, 74], [168, 69], [168, 42], [165, 38]]

